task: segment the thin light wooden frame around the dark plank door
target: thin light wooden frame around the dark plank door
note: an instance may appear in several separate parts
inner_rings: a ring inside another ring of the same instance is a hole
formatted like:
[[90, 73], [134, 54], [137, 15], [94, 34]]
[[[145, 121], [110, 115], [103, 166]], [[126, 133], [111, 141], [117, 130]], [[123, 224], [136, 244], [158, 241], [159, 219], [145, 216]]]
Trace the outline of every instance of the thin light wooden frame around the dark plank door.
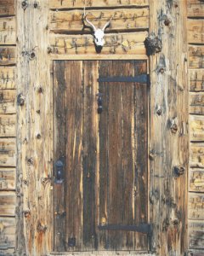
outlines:
[[[53, 56], [50, 59], [50, 83], [52, 84], [53, 88], [53, 109], [54, 109], [54, 61], [146, 61], [146, 69], [147, 69], [147, 108], [148, 108], [148, 115], [147, 115], [147, 223], [150, 224], [150, 158], [149, 155], [149, 148], [150, 148], [150, 60], [147, 55], [70, 55], [69, 57], [65, 56]], [[54, 113], [54, 112], [53, 112]], [[54, 114], [53, 114], [53, 124], [54, 124]], [[54, 129], [53, 129], [53, 137], [54, 137]], [[54, 148], [54, 139], [53, 139], [53, 148]], [[54, 151], [53, 151], [54, 154]], [[54, 175], [54, 171], [53, 171]], [[54, 193], [52, 195], [53, 198], [53, 206], [54, 206]], [[54, 232], [54, 207], [53, 207], [53, 232]], [[150, 235], [152, 236], [152, 234]], [[103, 255], [105, 252], [107, 255], [110, 253], [123, 253], [128, 254], [133, 253], [150, 253], [151, 241], [150, 238], [148, 239], [148, 250], [147, 251], [92, 251], [92, 255]], [[83, 254], [82, 254], [83, 253]], [[85, 255], [87, 253], [89, 255], [90, 252], [54, 252], [54, 242], [53, 242], [53, 252], [52, 255]], [[101, 254], [100, 254], [101, 253]]]

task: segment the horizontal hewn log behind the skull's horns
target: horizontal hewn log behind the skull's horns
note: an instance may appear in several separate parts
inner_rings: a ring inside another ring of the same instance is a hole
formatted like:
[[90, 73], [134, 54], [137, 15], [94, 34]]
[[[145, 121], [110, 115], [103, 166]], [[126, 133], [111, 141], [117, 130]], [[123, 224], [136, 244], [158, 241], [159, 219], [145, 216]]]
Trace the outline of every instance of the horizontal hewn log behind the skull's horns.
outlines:
[[[90, 28], [84, 27], [82, 16], [83, 10], [50, 12], [50, 30], [69, 33], [90, 32]], [[111, 20], [112, 16], [113, 19]], [[88, 10], [88, 20], [100, 28], [105, 26], [108, 20], [111, 20], [111, 26], [107, 27], [106, 32], [148, 29], [149, 9]], [[88, 25], [86, 22], [85, 24]]]

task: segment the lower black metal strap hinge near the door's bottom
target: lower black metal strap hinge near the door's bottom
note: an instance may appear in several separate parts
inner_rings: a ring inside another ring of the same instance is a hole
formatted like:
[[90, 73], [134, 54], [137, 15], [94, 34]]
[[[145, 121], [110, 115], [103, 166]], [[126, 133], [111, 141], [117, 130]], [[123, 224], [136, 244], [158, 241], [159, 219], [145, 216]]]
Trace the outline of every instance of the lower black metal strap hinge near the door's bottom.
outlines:
[[150, 236], [152, 232], [151, 224], [136, 224], [136, 225], [120, 225], [120, 224], [107, 224], [99, 225], [99, 230], [123, 230], [123, 231], [134, 231]]

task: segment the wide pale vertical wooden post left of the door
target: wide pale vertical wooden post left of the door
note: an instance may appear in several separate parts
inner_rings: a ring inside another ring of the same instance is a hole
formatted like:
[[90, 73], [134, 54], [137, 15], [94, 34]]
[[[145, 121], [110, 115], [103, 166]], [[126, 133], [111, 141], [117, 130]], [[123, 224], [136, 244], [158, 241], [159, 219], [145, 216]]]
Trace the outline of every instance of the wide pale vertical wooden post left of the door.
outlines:
[[[20, 255], [45, 255], [53, 249], [53, 86], [50, 83], [48, 0], [16, 1], [17, 212], [16, 250]], [[22, 214], [22, 212], [24, 214]]]

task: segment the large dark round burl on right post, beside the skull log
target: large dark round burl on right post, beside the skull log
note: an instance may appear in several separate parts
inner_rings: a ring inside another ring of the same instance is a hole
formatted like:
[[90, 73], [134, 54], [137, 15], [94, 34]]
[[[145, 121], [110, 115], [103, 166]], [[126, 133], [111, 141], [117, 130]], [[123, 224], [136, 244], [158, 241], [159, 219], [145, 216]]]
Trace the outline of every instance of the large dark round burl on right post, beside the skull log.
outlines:
[[148, 56], [155, 55], [156, 53], [161, 52], [162, 49], [161, 39], [156, 37], [155, 33], [152, 33], [149, 37], [145, 38], [144, 45]]

